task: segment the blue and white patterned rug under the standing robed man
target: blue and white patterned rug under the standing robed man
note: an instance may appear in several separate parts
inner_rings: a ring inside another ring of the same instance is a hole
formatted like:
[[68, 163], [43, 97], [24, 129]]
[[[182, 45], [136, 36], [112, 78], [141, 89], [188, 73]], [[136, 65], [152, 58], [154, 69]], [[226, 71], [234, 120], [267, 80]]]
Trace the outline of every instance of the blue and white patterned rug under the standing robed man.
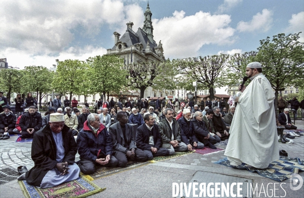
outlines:
[[293, 173], [297, 174], [298, 171], [304, 171], [304, 160], [284, 156], [280, 156], [279, 160], [270, 163], [270, 165], [265, 169], [256, 169], [245, 163], [242, 163], [242, 165], [239, 165], [237, 167], [231, 166], [230, 161], [227, 160], [227, 158], [214, 162], [214, 164], [221, 164], [232, 168], [244, 169], [252, 173], [257, 172], [263, 177], [267, 177], [279, 182], [289, 179]]

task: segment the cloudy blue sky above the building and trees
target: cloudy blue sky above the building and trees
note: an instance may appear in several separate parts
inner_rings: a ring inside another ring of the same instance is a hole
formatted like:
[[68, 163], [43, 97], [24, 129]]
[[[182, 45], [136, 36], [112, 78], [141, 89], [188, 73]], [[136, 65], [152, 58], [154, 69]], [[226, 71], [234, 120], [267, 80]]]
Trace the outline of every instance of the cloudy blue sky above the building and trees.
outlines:
[[[126, 23], [142, 27], [147, 1], [2, 0], [0, 58], [20, 69], [55, 59], [86, 60], [114, 45]], [[302, 31], [304, 2], [286, 0], [150, 0], [154, 39], [166, 58], [256, 50], [259, 40]]]

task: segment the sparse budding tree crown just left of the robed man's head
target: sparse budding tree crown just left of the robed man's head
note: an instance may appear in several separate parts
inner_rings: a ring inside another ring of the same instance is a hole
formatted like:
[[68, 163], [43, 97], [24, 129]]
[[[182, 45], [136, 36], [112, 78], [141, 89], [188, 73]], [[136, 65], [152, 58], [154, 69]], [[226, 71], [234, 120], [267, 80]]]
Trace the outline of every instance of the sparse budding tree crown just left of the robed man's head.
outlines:
[[255, 51], [251, 51], [229, 57], [229, 61], [227, 62], [227, 80], [229, 85], [240, 83], [245, 75], [247, 65], [254, 61], [256, 53]]

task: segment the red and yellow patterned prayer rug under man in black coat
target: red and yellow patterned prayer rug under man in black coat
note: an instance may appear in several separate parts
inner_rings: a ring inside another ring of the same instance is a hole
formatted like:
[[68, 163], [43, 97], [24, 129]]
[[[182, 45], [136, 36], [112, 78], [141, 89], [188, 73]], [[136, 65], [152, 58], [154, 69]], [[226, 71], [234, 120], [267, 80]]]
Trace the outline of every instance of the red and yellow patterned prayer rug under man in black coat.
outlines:
[[87, 197], [105, 190], [83, 176], [51, 188], [37, 188], [26, 183], [26, 180], [18, 182], [26, 198]]

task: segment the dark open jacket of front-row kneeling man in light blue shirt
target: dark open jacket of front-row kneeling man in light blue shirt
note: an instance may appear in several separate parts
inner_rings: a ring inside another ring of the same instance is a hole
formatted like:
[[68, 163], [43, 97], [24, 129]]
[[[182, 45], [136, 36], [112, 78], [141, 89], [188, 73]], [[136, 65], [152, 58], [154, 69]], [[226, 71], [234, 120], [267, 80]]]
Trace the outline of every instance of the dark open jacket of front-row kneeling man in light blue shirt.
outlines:
[[155, 147], [158, 150], [162, 145], [162, 136], [159, 132], [159, 127], [157, 124], [153, 125], [151, 130], [153, 134], [154, 145], [149, 144], [149, 129], [145, 124], [139, 126], [136, 131], [136, 146], [141, 150], [149, 150], [151, 147]]

